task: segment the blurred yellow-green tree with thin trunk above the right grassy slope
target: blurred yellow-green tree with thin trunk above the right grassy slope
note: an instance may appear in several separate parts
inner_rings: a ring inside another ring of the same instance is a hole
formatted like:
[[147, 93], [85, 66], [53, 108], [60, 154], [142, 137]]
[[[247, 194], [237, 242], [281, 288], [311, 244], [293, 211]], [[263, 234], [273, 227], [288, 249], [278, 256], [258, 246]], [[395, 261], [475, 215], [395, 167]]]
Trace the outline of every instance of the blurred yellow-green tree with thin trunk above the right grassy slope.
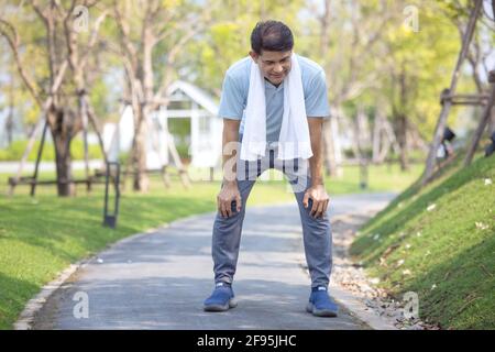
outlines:
[[[451, 35], [451, 23], [439, 15], [439, 7], [427, 1], [411, 1], [407, 7], [394, 2], [389, 9], [393, 21], [384, 29], [378, 47], [382, 59], [376, 70], [383, 73], [382, 89], [372, 96], [378, 100], [384, 98], [388, 106], [403, 170], [409, 167], [410, 133], [427, 135], [432, 129], [439, 110], [438, 92], [447, 84], [444, 67], [459, 47]], [[405, 22], [404, 9], [418, 11], [417, 31]]]

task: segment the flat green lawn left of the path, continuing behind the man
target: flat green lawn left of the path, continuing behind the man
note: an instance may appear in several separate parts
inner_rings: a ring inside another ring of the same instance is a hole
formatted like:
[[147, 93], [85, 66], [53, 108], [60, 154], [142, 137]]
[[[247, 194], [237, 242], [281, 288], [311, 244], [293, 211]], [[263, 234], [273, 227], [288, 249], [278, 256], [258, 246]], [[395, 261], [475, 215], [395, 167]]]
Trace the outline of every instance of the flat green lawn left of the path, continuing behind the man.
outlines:
[[[403, 174], [397, 166], [370, 169], [367, 191], [399, 191], [418, 175], [419, 166]], [[4, 196], [7, 179], [0, 174], [0, 329], [10, 329], [25, 302], [70, 263], [88, 257], [108, 244], [145, 229], [175, 219], [215, 211], [220, 183], [194, 183], [184, 189], [177, 177], [165, 189], [157, 176], [147, 195], [123, 193], [116, 230], [103, 228], [103, 186], [88, 195], [78, 186], [77, 197], [58, 198], [55, 186], [40, 186], [36, 197], [28, 186], [19, 186], [12, 198]], [[76, 172], [75, 177], [81, 177]], [[41, 179], [53, 179], [45, 173]], [[274, 178], [275, 175], [274, 175]], [[346, 167], [343, 177], [327, 179], [330, 195], [364, 191], [359, 186], [358, 167]], [[130, 187], [130, 182], [128, 187]], [[249, 205], [282, 202], [294, 199], [285, 182], [260, 182]]]

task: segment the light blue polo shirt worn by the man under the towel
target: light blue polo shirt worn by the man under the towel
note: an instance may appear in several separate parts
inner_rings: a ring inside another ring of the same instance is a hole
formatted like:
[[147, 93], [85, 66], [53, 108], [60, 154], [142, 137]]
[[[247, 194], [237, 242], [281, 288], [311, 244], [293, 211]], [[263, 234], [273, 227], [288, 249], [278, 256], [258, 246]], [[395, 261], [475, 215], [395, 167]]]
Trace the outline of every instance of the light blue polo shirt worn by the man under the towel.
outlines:
[[[307, 57], [296, 55], [302, 78], [306, 114], [308, 118], [328, 118], [330, 108], [323, 69]], [[223, 119], [242, 120], [239, 133], [244, 131], [245, 106], [250, 89], [251, 56], [233, 64], [226, 73], [218, 116]], [[265, 79], [266, 141], [276, 142], [280, 134], [284, 113], [284, 85], [275, 87]]]

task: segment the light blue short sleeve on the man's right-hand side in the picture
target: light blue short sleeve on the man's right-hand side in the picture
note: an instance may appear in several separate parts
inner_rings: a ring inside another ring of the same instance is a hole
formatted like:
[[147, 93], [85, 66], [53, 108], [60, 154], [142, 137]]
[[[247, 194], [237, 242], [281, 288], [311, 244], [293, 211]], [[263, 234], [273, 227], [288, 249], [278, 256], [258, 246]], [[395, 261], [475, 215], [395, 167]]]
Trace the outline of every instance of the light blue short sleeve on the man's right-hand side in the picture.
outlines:
[[305, 96], [306, 116], [308, 118], [329, 118], [330, 107], [323, 70], [315, 75], [307, 89]]

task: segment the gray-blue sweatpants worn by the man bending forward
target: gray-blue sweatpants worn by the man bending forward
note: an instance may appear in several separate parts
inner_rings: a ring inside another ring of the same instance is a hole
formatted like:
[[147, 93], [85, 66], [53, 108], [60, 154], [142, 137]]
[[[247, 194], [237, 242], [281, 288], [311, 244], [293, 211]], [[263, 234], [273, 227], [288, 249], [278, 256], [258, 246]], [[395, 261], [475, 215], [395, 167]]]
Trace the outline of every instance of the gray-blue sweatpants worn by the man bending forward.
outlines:
[[212, 256], [215, 282], [232, 283], [235, 274], [241, 242], [242, 223], [245, 215], [245, 204], [256, 182], [264, 170], [276, 168], [284, 173], [292, 185], [294, 195], [299, 206], [299, 215], [302, 223], [302, 237], [306, 261], [311, 276], [311, 287], [324, 286], [330, 282], [332, 268], [332, 234], [328, 215], [321, 218], [310, 216], [312, 201], [308, 208], [302, 205], [306, 189], [311, 185], [309, 163], [302, 160], [294, 160], [289, 163], [274, 158], [276, 150], [267, 150], [266, 156], [257, 162], [244, 162], [238, 160], [238, 187], [241, 194], [242, 207], [237, 212], [235, 201], [232, 201], [232, 215], [223, 218], [219, 212], [215, 219], [212, 237]]

